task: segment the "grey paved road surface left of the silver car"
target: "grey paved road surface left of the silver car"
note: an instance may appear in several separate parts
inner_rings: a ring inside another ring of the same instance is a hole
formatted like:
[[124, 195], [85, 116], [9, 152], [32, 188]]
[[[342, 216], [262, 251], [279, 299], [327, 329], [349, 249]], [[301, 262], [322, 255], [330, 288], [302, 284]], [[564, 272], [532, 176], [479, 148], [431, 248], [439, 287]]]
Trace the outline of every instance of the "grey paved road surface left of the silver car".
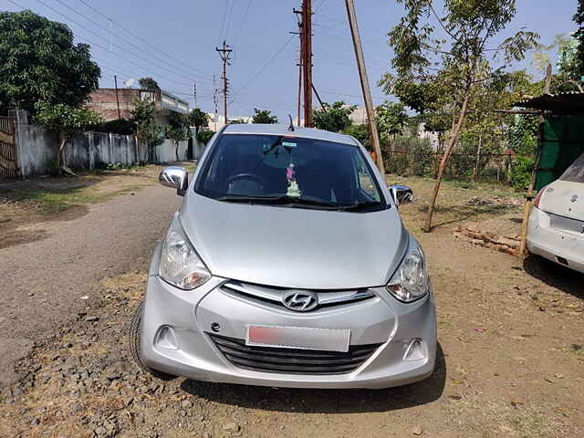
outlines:
[[0, 386], [36, 339], [100, 299], [103, 276], [145, 269], [179, 199], [151, 185], [16, 229], [35, 238], [0, 249]]

